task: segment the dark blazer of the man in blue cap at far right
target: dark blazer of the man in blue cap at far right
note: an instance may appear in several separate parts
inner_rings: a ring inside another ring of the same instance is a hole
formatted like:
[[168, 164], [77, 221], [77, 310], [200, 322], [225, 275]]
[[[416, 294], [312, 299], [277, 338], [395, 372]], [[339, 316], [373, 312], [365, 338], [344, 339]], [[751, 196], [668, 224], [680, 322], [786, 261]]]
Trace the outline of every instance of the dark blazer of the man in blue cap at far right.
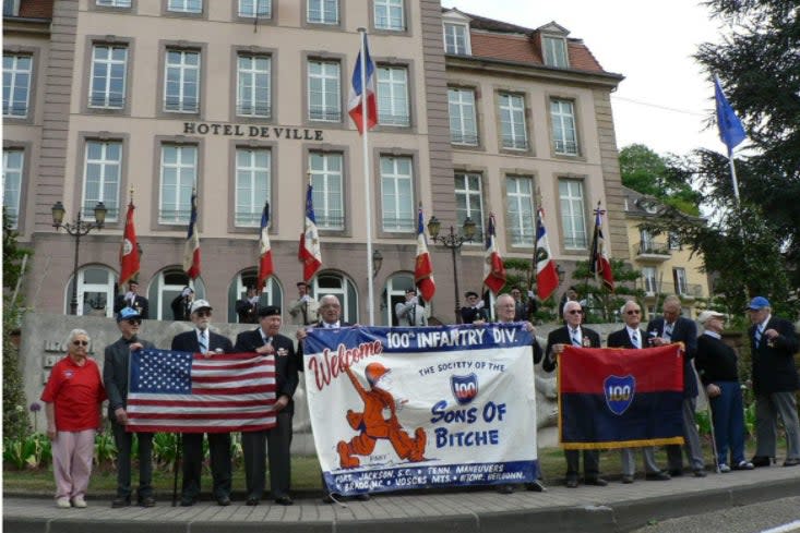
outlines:
[[753, 391], [756, 395], [769, 395], [799, 389], [800, 378], [795, 365], [795, 354], [800, 343], [795, 325], [773, 316], [764, 328], [765, 331], [767, 329], [774, 329], [779, 335], [772, 341], [773, 346], [769, 346], [766, 336], [763, 336], [759, 348], [755, 348], [755, 326], [748, 329], [753, 365]]

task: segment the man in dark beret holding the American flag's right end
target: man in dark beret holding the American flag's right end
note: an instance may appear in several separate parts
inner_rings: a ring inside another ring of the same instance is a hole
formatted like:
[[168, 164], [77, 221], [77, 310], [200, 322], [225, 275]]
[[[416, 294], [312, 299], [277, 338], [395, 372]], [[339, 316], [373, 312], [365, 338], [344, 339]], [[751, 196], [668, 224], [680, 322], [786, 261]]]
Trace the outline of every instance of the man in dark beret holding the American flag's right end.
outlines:
[[270, 487], [275, 502], [292, 504], [289, 496], [291, 417], [295, 403], [291, 397], [299, 381], [295, 344], [280, 335], [280, 308], [272, 305], [259, 310], [259, 328], [243, 331], [236, 338], [237, 352], [255, 352], [275, 358], [275, 417], [272, 429], [242, 432], [241, 447], [244, 455], [247, 505], [256, 506], [264, 493], [266, 461], [264, 445], [270, 457]]

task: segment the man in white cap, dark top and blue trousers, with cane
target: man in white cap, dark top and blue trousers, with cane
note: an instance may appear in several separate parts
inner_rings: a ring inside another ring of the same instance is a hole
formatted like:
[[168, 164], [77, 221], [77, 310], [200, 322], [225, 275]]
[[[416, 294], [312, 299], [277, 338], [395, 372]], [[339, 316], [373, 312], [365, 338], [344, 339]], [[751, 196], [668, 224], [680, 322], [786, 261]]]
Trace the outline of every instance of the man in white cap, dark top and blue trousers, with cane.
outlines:
[[736, 350], [721, 338], [725, 315], [716, 311], [704, 311], [697, 322], [705, 331], [697, 339], [694, 366], [712, 407], [717, 468], [721, 473], [753, 470], [753, 463], [744, 460], [744, 411], [739, 386], [738, 358]]

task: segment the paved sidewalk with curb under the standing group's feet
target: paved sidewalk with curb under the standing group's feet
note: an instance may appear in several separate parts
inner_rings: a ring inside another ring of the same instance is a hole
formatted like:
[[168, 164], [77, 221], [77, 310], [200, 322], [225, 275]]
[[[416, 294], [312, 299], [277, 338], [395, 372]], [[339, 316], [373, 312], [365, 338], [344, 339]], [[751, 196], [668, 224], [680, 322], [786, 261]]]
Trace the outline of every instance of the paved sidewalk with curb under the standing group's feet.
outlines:
[[665, 520], [800, 494], [800, 467], [769, 467], [751, 472], [709, 473], [705, 479], [668, 482], [637, 479], [631, 485], [613, 481], [607, 487], [501, 495], [492, 489], [421, 494], [395, 493], [346, 507], [319, 498], [296, 498], [291, 507], [264, 501], [247, 507], [234, 501], [219, 507], [111, 509], [110, 499], [88, 498], [87, 509], [57, 509], [51, 499], [3, 498], [7, 533], [247, 533], [278, 532], [408, 532], [442, 531], [514, 533], [630, 532], [650, 520]]

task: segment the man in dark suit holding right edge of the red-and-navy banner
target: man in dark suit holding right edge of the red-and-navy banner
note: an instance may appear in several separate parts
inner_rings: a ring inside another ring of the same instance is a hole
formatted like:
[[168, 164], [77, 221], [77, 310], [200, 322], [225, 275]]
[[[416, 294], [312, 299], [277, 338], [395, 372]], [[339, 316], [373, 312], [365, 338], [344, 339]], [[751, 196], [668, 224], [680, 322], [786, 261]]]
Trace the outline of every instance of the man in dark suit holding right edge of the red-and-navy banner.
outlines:
[[[662, 316], [647, 324], [650, 346], [660, 347], [683, 342], [683, 440], [686, 459], [695, 477], [705, 477], [705, 461], [700, 446], [700, 435], [694, 421], [697, 404], [697, 374], [692, 360], [697, 353], [697, 326], [693, 320], [681, 316], [681, 300], [674, 294], [664, 299]], [[669, 473], [673, 477], [683, 475], [683, 457], [680, 445], [667, 446]]]

